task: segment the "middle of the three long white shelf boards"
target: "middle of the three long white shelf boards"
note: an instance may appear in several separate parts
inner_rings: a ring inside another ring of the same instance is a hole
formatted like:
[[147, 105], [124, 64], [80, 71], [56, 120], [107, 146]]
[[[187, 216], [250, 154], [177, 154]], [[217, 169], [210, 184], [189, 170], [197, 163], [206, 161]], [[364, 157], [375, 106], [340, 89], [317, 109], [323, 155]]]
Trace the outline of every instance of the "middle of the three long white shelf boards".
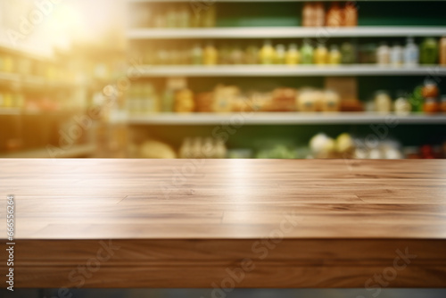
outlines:
[[139, 67], [143, 77], [295, 77], [295, 76], [444, 76], [446, 67], [426, 65], [392, 67], [376, 64], [351, 65], [216, 65]]

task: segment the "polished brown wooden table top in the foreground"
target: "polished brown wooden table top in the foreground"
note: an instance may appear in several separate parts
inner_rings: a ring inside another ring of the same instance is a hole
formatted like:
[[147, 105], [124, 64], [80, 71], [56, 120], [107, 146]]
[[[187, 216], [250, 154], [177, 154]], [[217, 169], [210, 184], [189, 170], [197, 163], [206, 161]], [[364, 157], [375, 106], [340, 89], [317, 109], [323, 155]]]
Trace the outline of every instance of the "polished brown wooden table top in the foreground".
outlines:
[[246, 260], [237, 287], [363, 287], [400, 252], [392, 287], [446, 286], [446, 161], [11, 159], [0, 181], [20, 287], [77, 286], [104, 243], [84, 287], [213, 287]]

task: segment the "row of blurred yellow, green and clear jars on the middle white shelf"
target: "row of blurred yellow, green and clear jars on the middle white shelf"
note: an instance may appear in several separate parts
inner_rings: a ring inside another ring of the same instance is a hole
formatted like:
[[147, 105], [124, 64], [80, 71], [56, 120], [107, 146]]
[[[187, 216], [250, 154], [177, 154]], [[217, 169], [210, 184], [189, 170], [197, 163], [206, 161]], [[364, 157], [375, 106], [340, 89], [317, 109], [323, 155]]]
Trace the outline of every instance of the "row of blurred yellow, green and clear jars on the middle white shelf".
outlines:
[[413, 37], [407, 37], [406, 44], [382, 41], [357, 44], [343, 42], [314, 42], [303, 39], [289, 44], [274, 44], [266, 39], [262, 45], [251, 43], [216, 46], [213, 42], [195, 43], [191, 46], [141, 46], [136, 56], [144, 57], [150, 65], [237, 65], [237, 64], [378, 64], [392, 67], [414, 67], [421, 64], [446, 65], [446, 37], [437, 40], [425, 38], [417, 46]]

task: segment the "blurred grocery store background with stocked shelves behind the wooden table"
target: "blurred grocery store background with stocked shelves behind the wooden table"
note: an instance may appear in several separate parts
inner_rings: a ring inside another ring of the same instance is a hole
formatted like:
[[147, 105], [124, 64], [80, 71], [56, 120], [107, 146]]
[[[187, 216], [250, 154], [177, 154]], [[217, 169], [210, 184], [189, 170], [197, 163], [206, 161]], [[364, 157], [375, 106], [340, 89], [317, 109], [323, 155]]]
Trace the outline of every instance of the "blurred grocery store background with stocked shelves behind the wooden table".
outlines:
[[445, 11], [0, 0], [0, 157], [446, 158]]

